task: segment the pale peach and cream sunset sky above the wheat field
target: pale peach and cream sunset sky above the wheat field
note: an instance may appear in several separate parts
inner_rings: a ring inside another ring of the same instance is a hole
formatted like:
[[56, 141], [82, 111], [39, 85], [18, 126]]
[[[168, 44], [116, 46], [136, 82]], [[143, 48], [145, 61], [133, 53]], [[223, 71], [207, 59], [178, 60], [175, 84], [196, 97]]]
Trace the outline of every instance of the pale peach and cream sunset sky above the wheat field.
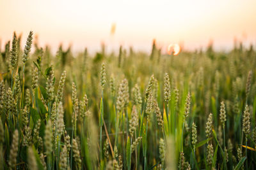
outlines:
[[[108, 50], [125, 48], [149, 51], [152, 39], [166, 48], [184, 43], [184, 48], [206, 46], [209, 39], [219, 50], [230, 49], [234, 37], [256, 45], [255, 0], [0, 0], [1, 46], [13, 31], [38, 34], [40, 45], [72, 43], [75, 51], [90, 52], [104, 41]], [[111, 25], [116, 32], [110, 35]]]

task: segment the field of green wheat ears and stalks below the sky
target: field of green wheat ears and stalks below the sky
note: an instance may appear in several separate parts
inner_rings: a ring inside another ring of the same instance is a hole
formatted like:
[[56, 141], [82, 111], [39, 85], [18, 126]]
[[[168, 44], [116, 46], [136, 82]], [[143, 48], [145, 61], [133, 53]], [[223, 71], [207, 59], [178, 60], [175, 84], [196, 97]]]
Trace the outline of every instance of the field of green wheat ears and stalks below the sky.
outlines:
[[243, 45], [52, 55], [14, 34], [0, 53], [0, 169], [255, 169], [255, 66]]

